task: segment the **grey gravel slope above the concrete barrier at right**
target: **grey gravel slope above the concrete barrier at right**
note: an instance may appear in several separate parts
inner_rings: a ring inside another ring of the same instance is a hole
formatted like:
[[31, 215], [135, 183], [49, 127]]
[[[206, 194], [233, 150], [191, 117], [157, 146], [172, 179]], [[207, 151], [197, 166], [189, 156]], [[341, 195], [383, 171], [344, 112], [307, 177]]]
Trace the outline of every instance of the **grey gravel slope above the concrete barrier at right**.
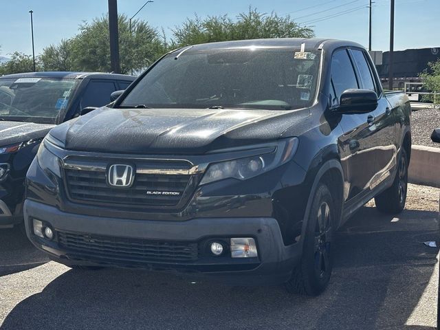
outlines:
[[431, 141], [431, 133], [440, 127], [440, 109], [421, 109], [412, 112], [412, 144], [422, 146], [434, 146], [440, 148], [439, 144]]

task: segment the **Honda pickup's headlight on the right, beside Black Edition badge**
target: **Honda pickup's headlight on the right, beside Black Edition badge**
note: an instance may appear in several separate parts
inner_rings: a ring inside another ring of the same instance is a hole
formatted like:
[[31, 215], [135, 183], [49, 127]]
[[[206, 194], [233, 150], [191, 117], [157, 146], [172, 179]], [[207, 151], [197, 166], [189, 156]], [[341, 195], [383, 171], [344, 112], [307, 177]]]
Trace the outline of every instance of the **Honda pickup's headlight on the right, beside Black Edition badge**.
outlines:
[[298, 139], [294, 137], [282, 140], [272, 153], [210, 164], [200, 184], [208, 184], [226, 178], [245, 180], [261, 175], [292, 159], [297, 147]]

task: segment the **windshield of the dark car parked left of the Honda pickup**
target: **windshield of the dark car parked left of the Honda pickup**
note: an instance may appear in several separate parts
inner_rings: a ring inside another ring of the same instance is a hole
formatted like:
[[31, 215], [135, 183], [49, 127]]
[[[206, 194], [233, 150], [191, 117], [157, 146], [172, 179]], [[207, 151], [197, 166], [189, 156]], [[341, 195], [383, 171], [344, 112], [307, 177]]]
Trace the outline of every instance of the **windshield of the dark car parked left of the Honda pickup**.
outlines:
[[75, 79], [0, 79], [0, 120], [55, 124], [76, 85]]

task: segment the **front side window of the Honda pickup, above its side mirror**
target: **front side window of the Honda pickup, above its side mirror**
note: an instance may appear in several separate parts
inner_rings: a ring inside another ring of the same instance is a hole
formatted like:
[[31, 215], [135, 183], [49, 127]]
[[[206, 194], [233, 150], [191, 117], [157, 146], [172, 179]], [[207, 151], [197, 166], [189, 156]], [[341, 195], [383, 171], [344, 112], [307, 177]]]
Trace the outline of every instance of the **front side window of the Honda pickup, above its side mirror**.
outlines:
[[339, 98], [346, 89], [359, 88], [347, 50], [338, 50], [331, 58], [331, 85], [332, 105], [339, 103]]

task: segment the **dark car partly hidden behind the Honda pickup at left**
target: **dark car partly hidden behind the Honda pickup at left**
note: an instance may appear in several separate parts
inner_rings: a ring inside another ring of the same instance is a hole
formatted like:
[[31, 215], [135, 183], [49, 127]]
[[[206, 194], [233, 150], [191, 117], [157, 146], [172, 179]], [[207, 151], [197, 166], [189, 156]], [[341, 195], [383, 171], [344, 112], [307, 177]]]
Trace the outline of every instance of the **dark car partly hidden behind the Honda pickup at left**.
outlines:
[[108, 104], [111, 93], [134, 79], [83, 72], [0, 77], [0, 228], [23, 222], [25, 175], [47, 132]]

